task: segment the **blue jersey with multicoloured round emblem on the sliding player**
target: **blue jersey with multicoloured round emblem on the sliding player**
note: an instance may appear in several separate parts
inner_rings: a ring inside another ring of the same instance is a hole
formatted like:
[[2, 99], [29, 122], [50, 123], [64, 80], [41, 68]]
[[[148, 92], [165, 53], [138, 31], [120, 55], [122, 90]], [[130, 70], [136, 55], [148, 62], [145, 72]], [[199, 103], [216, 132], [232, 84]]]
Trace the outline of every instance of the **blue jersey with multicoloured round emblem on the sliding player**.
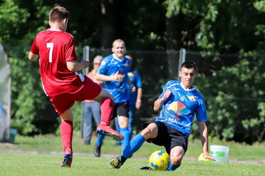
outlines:
[[207, 121], [204, 99], [194, 86], [192, 89], [185, 89], [179, 81], [168, 81], [159, 99], [163, 97], [166, 90], [170, 90], [171, 94], [165, 100], [160, 117], [157, 117], [156, 121], [163, 121], [189, 137], [194, 113], [197, 121]]

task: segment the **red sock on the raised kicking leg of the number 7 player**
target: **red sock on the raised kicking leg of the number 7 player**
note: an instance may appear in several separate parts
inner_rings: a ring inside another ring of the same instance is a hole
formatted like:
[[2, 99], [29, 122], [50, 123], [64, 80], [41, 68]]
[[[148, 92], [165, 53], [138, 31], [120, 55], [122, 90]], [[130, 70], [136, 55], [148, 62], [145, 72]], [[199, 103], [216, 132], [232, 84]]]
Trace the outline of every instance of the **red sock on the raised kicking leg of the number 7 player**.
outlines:
[[104, 126], [109, 126], [110, 120], [113, 114], [113, 107], [114, 107], [114, 101], [106, 97], [102, 99], [101, 101], [101, 119], [100, 119], [100, 124]]

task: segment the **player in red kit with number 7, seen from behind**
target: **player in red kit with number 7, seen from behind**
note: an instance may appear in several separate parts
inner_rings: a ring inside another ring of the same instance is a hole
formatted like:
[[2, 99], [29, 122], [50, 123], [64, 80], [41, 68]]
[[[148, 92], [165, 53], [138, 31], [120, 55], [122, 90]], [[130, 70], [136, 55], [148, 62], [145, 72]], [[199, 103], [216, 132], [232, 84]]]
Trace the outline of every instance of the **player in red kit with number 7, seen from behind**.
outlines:
[[73, 114], [75, 101], [94, 100], [101, 103], [101, 120], [97, 127], [100, 134], [114, 140], [124, 137], [109, 127], [113, 113], [114, 98], [87, 76], [77, 73], [87, 68], [89, 60], [77, 62], [74, 38], [66, 33], [69, 11], [54, 7], [49, 12], [50, 29], [41, 31], [32, 44], [29, 59], [39, 60], [43, 90], [49, 96], [56, 112], [60, 115], [61, 138], [65, 152], [62, 167], [71, 167]]

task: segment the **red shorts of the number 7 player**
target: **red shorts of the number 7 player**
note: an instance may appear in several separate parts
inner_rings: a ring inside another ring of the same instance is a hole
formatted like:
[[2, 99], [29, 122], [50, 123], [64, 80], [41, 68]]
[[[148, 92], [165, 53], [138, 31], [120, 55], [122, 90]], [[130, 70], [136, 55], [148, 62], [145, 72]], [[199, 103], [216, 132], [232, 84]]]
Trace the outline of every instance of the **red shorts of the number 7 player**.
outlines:
[[53, 103], [53, 107], [59, 115], [63, 115], [66, 110], [70, 109], [75, 101], [92, 100], [100, 94], [100, 85], [87, 76], [84, 77], [84, 83], [79, 89], [49, 97], [50, 101]]

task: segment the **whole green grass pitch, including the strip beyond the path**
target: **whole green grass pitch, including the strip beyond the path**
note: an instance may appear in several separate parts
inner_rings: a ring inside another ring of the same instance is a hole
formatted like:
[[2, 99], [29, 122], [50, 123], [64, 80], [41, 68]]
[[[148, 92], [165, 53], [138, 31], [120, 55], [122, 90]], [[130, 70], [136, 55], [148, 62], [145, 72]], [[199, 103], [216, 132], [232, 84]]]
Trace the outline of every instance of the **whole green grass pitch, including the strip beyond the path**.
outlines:
[[[61, 168], [62, 143], [59, 136], [46, 135], [22, 137], [16, 135], [15, 144], [0, 143], [0, 175], [264, 175], [265, 144], [252, 146], [239, 143], [224, 143], [212, 140], [209, 145], [230, 147], [227, 163], [198, 162], [202, 152], [200, 141], [189, 141], [188, 151], [181, 167], [174, 172], [143, 171], [148, 166], [150, 154], [164, 150], [154, 144], [144, 145], [128, 159], [120, 169], [110, 169], [109, 160], [120, 155], [121, 147], [114, 147], [115, 141], [105, 138], [100, 158], [94, 157], [95, 138], [91, 145], [84, 145], [75, 135], [73, 139], [73, 162], [71, 168]], [[256, 164], [258, 163], [258, 164]]]

